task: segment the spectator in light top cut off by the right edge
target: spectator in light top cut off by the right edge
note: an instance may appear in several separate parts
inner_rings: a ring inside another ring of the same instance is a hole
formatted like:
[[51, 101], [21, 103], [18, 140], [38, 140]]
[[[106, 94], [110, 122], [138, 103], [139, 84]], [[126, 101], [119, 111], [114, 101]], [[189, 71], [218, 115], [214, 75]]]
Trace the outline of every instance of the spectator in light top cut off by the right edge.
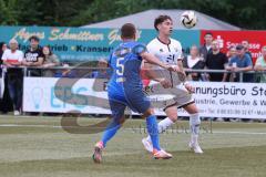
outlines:
[[262, 56], [256, 60], [254, 70], [264, 71], [264, 73], [257, 73], [256, 77], [258, 79], [258, 82], [266, 83], [266, 45], [262, 48]]

